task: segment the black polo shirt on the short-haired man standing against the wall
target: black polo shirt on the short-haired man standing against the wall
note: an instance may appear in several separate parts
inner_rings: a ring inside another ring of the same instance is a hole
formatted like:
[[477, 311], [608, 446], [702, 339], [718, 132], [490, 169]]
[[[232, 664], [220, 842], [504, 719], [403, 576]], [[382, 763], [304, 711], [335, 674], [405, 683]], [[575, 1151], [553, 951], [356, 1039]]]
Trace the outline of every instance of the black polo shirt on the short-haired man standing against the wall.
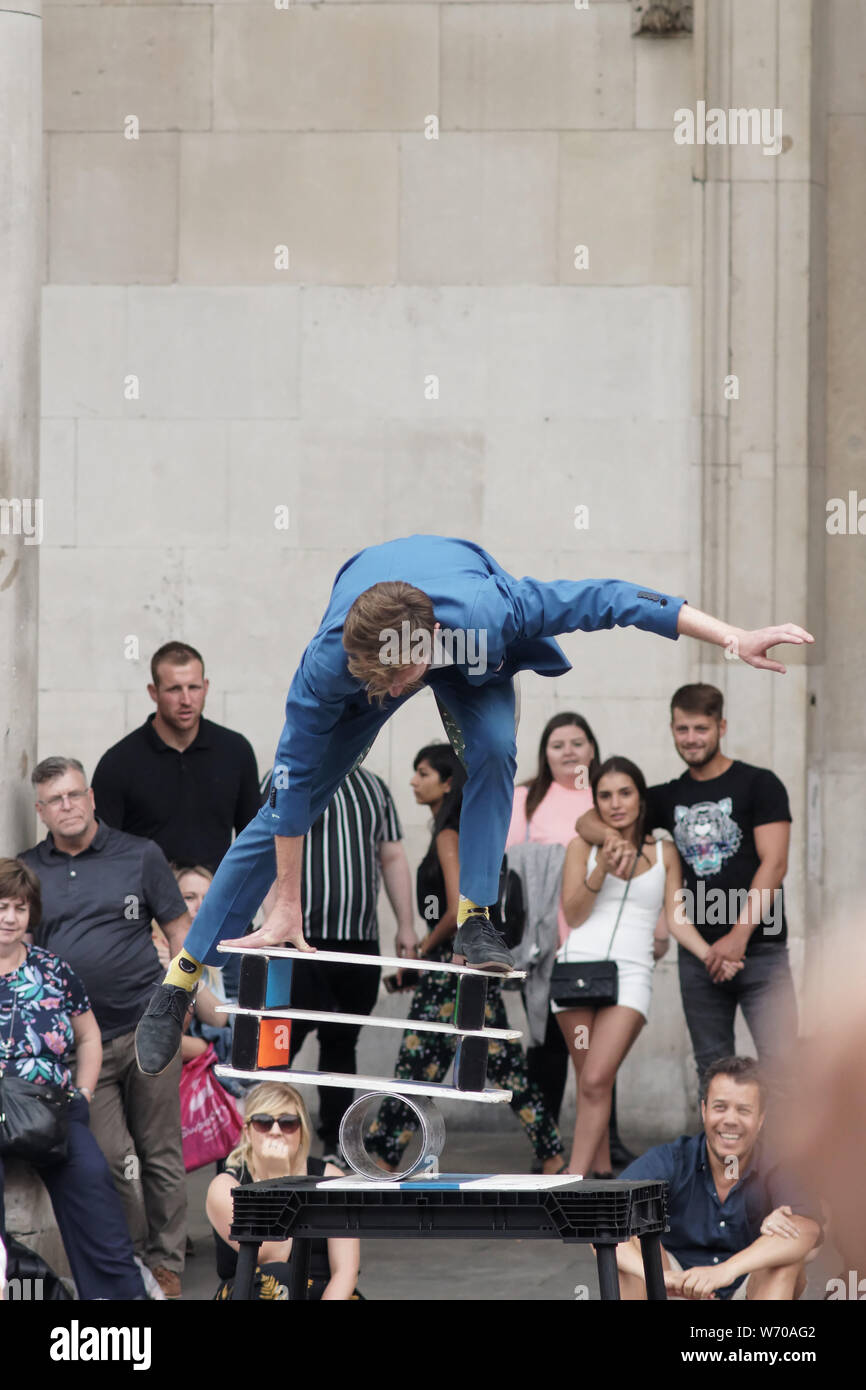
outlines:
[[96, 764], [96, 815], [117, 830], [154, 840], [175, 865], [215, 873], [238, 834], [259, 810], [256, 755], [243, 734], [210, 719], [181, 752], [145, 724], [114, 744]]

